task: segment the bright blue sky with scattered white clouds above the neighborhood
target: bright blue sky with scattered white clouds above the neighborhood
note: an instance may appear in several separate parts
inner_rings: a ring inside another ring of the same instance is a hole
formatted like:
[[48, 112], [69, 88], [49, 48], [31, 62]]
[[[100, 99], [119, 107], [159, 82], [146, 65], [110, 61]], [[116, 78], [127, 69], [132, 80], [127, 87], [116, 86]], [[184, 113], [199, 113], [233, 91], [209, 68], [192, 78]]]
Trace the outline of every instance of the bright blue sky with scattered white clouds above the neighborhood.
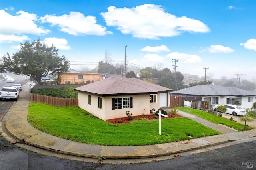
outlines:
[[[40, 37], [72, 69], [94, 69], [106, 51], [128, 71], [256, 81], [256, 1], [1, 0], [0, 56]], [[81, 64], [81, 65], [77, 65]]]

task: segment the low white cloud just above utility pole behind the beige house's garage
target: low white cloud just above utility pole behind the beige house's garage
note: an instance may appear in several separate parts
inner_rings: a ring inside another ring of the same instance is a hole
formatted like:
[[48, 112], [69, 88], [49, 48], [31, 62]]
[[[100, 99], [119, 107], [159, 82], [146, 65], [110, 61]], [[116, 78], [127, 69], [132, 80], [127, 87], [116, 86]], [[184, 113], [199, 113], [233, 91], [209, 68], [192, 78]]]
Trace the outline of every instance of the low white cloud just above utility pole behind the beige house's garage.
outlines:
[[182, 63], [201, 63], [202, 59], [198, 55], [191, 55], [186, 53], [173, 52], [166, 55], [167, 58], [179, 59]]

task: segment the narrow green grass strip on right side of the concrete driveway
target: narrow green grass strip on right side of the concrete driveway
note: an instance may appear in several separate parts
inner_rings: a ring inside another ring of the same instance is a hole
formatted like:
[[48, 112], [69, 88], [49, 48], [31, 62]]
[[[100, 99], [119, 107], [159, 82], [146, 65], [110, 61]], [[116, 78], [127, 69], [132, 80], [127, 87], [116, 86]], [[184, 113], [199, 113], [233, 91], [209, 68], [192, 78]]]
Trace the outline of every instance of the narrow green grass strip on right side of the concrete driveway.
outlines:
[[180, 110], [180, 111], [184, 111], [187, 113], [191, 113], [193, 115], [196, 115], [198, 117], [202, 117], [203, 119], [206, 119], [210, 122], [216, 123], [216, 124], [222, 124], [222, 125], [226, 125], [228, 127], [234, 128], [238, 131], [244, 131], [244, 130], [250, 130], [250, 127], [246, 127], [240, 123], [236, 123], [234, 121], [230, 121], [228, 119], [225, 119], [223, 117], [219, 117], [216, 115], [213, 115], [211, 113], [205, 112], [205, 111], [201, 111], [198, 109], [191, 109], [188, 107], [175, 107], [176, 109]]

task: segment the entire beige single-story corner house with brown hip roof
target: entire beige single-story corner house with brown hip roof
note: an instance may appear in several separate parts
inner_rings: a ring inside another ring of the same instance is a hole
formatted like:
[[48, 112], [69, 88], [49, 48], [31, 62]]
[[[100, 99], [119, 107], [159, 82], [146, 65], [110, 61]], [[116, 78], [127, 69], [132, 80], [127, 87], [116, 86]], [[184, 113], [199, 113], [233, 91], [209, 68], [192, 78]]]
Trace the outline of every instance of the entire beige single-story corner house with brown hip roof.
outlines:
[[113, 76], [74, 89], [78, 105], [102, 120], [148, 115], [150, 110], [169, 106], [172, 89], [136, 79]]

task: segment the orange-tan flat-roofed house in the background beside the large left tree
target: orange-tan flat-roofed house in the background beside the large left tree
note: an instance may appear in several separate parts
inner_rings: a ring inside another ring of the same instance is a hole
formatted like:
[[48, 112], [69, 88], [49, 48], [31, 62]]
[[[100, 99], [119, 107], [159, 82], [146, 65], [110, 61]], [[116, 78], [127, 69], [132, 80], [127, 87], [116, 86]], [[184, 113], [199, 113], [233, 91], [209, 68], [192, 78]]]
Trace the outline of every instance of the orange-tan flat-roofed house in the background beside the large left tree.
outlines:
[[70, 69], [67, 73], [56, 73], [56, 79], [60, 84], [84, 84], [102, 80], [102, 74], [97, 73], [80, 73], [74, 69]]

